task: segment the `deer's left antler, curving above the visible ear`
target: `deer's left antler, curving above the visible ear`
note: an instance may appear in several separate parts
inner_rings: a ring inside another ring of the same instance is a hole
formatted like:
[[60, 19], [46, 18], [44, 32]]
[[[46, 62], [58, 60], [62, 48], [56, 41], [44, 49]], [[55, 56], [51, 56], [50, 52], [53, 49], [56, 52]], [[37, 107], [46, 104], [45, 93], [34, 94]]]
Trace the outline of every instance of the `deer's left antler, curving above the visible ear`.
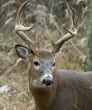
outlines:
[[27, 45], [30, 47], [31, 44], [34, 44], [35, 42], [32, 41], [31, 39], [29, 39], [29, 37], [23, 32], [23, 31], [28, 31], [28, 30], [31, 30], [37, 23], [29, 26], [29, 27], [25, 27], [23, 26], [23, 24], [20, 22], [21, 20], [21, 12], [24, 8], [24, 6], [29, 3], [30, 0], [24, 2], [21, 7], [19, 8], [18, 10], [18, 13], [17, 13], [17, 18], [16, 18], [16, 25], [15, 25], [15, 31], [16, 33], [27, 43]]

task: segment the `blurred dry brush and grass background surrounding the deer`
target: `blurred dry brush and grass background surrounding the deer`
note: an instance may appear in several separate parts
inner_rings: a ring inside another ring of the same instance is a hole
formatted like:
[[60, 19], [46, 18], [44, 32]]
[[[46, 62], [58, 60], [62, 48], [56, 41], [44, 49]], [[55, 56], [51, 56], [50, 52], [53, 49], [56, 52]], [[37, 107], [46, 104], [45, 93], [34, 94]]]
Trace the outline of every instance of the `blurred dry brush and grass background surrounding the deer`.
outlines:
[[[26, 0], [0, 0], [0, 110], [34, 110], [34, 102], [28, 90], [28, 62], [18, 58], [17, 43], [25, 43], [15, 33], [16, 14]], [[50, 45], [50, 37], [61, 37], [62, 25], [67, 24], [69, 14], [65, 0], [30, 0], [23, 11], [26, 25], [40, 22], [29, 37], [39, 36], [39, 48]], [[92, 1], [67, 0], [74, 17], [78, 36], [69, 40], [57, 57], [57, 68], [74, 71], [92, 70]], [[89, 3], [90, 2], [90, 3]], [[90, 5], [89, 5], [90, 4]]]

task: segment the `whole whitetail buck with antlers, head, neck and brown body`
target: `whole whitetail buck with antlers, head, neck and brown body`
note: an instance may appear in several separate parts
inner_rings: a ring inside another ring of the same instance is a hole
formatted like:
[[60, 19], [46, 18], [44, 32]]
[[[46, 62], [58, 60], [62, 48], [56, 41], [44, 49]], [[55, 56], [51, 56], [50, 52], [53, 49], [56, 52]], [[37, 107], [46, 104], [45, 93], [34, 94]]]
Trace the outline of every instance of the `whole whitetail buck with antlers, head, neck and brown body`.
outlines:
[[52, 51], [49, 51], [33, 49], [36, 42], [24, 33], [36, 25], [25, 27], [20, 23], [21, 11], [28, 2], [23, 3], [18, 11], [15, 31], [29, 48], [17, 44], [15, 49], [21, 58], [29, 59], [29, 88], [36, 110], [92, 110], [92, 72], [81, 74], [55, 67], [56, 53], [67, 40], [77, 35], [68, 4], [70, 26], [69, 29], [65, 28], [67, 34], [57, 42], [52, 42]]

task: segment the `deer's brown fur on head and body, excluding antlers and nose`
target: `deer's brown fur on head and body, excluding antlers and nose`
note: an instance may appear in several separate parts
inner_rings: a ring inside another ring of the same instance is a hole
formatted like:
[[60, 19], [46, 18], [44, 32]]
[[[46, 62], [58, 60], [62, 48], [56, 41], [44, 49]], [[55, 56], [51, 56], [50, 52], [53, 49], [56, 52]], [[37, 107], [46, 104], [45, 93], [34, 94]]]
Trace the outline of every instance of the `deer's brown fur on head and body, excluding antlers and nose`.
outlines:
[[[53, 66], [55, 54], [47, 50], [32, 54], [21, 45], [16, 50], [20, 57], [29, 59], [29, 88], [36, 110], [92, 110], [92, 72], [58, 70]], [[53, 77], [53, 83], [43, 85], [41, 78], [48, 75]]]

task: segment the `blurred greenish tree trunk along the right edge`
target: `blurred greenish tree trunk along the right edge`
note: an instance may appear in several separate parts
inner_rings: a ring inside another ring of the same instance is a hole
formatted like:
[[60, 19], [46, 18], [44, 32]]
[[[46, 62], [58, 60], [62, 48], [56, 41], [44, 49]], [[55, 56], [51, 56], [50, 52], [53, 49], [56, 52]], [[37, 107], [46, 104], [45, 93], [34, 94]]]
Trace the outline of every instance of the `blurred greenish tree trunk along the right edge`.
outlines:
[[92, 71], [92, 0], [89, 3], [86, 71]]

